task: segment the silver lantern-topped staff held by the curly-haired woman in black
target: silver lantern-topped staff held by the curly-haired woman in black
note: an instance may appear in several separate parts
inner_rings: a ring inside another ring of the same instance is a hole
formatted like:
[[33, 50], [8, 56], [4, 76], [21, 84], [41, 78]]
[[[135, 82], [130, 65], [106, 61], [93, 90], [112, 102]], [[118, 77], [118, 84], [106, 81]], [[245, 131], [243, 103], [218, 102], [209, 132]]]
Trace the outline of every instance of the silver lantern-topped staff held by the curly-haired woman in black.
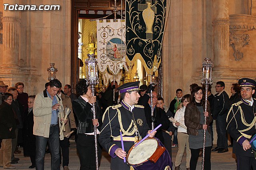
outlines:
[[[85, 60], [86, 65], [86, 83], [92, 89], [92, 96], [94, 96], [95, 85], [99, 83], [97, 59], [94, 54], [87, 54], [88, 59]], [[92, 104], [93, 119], [96, 119], [95, 103]], [[98, 161], [98, 141], [97, 141], [97, 127], [94, 125], [94, 140], [95, 140], [95, 157], [96, 157], [96, 170], [99, 169]]]

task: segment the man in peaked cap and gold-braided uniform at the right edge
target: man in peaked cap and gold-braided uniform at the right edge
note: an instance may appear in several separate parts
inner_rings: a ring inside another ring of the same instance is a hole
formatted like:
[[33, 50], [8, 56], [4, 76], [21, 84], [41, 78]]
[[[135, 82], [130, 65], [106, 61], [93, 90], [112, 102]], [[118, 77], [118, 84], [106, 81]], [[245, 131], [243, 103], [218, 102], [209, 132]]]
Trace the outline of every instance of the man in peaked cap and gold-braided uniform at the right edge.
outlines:
[[241, 100], [234, 103], [227, 116], [227, 131], [234, 139], [233, 153], [236, 154], [237, 170], [256, 169], [256, 159], [249, 143], [256, 132], [256, 82], [242, 78], [238, 81], [241, 88]]

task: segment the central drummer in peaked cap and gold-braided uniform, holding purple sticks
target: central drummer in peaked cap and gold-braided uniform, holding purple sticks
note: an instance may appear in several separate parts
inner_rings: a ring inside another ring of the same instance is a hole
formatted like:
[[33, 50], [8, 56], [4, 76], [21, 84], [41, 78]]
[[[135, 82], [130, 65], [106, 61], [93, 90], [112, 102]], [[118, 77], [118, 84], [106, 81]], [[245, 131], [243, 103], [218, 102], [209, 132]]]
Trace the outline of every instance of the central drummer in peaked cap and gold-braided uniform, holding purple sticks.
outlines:
[[[137, 140], [152, 131], [147, 125], [144, 107], [136, 105], [140, 97], [139, 83], [140, 81], [130, 82], [118, 87], [122, 101], [118, 105], [108, 107], [103, 115], [99, 142], [111, 156], [111, 170], [130, 170], [123, 160], [126, 153]], [[123, 134], [124, 151], [120, 129]], [[152, 132], [150, 137], [154, 137], [155, 134], [156, 131]]]

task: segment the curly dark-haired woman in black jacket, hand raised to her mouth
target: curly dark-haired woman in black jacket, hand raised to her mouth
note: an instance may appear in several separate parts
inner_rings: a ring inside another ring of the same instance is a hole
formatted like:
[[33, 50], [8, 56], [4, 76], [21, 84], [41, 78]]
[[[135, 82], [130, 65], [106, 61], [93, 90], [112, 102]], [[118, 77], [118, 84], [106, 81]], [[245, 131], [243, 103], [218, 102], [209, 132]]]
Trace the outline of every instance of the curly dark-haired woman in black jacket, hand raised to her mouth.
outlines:
[[[92, 96], [92, 90], [85, 79], [81, 79], [76, 85], [76, 93], [79, 97], [72, 101], [72, 107], [78, 119], [76, 149], [80, 158], [80, 170], [95, 170], [94, 125], [97, 127], [97, 134], [100, 134], [103, 114], [96, 96]], [[93, 103], [95, 103], [96, 119], [93, 119]], [[102, 148], [98, 144], [98, 162], [101, 152]]]

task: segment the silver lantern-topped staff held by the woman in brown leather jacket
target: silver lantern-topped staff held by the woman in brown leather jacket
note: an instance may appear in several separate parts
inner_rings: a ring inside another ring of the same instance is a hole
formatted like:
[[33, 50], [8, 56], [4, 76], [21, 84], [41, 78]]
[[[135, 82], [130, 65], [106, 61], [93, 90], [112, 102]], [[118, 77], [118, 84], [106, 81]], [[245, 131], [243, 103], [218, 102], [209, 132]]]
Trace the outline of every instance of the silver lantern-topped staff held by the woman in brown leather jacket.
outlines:
[[[212, 85], [212, 61], [211, 58], [204, 58], [204, 62], [202, 64], [202, 85], [205, 85], [205, 107], [204, 111], [207, 111], [207, 97], [208, 97], [208, 87]], [[206, 124], [207, 118], [204, 117], [204, 124]], [[204, 157], [205, 157], [205, 138], [206, 138], [206, 130], [204, 129], [204, 144], [203, 144], [203, 157], [202, 157], [202, 170], [204, 170]]]

